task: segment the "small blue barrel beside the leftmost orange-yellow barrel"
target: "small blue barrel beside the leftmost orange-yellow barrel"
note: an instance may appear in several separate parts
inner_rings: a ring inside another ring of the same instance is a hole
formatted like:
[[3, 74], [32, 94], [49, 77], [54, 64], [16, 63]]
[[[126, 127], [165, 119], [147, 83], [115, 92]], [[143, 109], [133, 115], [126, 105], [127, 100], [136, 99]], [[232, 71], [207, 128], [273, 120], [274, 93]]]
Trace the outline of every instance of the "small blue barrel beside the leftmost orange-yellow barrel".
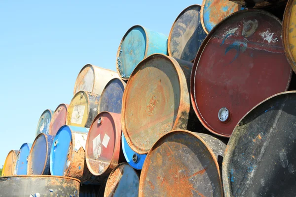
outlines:
[[15, 174], [27, 175], [28, 157], [32, 147], [32, 143], [24, 143], [17, 155]]

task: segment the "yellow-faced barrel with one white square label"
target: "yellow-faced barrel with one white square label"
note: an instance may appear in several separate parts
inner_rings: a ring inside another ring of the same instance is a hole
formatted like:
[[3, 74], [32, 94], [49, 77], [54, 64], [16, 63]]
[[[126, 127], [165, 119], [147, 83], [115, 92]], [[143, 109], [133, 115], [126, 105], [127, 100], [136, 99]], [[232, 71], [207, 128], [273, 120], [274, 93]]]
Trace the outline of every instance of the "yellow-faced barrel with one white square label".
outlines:
[[90, 92], [77, 92], [68, 108], [67, 125], [89, 128], [98, 114], [100, 96]]

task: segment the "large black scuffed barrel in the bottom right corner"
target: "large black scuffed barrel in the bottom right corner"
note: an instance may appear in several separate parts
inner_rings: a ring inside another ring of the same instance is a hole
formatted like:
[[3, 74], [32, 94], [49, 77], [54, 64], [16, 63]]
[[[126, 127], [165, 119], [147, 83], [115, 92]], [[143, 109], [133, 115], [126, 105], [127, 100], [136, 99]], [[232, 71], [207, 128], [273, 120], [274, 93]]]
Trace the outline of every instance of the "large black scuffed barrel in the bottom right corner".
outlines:
[[295, 197], [296, 91], [276, 94], [235, 127], [223, 159], [225, 197]]

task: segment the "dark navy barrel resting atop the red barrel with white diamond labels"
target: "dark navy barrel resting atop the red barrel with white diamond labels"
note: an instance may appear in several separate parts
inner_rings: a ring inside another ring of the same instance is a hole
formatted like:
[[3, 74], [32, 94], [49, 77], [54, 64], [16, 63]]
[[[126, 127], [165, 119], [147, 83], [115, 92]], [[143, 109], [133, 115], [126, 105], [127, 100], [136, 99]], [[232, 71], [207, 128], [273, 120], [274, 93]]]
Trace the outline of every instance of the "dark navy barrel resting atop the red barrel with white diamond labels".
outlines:
[[121, 113], [122, 95], [126, 83], [120, 79], [111, 79], [105, 86], [99, 101], [98, 113]]

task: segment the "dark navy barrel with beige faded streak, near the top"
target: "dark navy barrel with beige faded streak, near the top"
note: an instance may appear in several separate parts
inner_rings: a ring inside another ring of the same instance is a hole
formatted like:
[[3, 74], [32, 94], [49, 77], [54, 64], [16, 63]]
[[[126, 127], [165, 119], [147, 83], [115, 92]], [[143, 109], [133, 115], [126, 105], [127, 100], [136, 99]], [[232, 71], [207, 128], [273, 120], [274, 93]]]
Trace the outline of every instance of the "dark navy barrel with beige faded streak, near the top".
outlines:
[[175, 20], [168, 39], [168, 54], [174, 58], [193, 61], [205, 39], [200, 20], [200, 5], [190, 5]]

